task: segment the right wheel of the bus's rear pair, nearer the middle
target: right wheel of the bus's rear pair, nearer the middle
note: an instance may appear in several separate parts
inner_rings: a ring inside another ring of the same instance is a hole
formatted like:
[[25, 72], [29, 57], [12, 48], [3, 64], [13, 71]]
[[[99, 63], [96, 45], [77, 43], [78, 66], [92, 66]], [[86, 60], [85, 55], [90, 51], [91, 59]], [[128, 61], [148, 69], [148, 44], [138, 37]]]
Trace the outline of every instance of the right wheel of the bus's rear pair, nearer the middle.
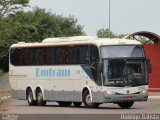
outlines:
[[36, 99], [37, 99], [38, 106], [45, 106], [46, 105], [46, 101], [43, 100], [43, 94], [42, 94], [41, 90], [37, 91]]

